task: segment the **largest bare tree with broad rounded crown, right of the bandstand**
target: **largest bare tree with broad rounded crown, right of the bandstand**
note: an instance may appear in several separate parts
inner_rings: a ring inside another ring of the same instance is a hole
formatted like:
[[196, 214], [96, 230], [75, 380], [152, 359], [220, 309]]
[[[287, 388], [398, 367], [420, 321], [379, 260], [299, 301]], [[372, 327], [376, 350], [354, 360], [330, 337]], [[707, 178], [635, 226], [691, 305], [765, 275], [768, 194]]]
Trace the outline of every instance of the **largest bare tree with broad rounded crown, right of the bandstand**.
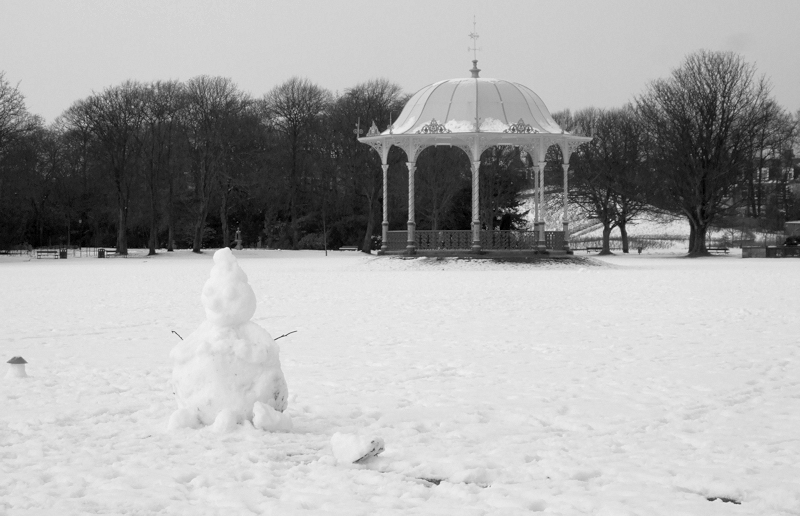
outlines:
[[769, 86], [731, 52], [690, 54], [667, 79], [636, 99], [648, 141], [653, 199], [685, 216], [689, 255], [707, 255], [706, 232], [731, 206], [732, 190], [752, 166]]

